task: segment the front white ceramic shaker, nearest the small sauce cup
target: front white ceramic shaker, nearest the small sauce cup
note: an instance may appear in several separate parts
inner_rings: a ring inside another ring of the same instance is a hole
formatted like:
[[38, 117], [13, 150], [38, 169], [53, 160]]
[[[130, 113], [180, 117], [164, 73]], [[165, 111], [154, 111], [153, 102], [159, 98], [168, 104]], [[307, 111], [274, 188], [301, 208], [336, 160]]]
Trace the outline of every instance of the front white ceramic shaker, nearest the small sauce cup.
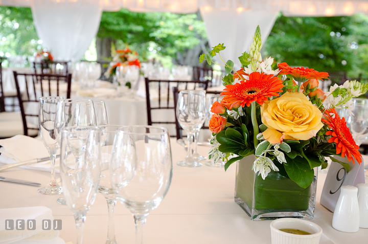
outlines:
[[359, 230], [358, 188], [355, 186], [341, 186], [332, 227], [342, 232], [357, 232]]

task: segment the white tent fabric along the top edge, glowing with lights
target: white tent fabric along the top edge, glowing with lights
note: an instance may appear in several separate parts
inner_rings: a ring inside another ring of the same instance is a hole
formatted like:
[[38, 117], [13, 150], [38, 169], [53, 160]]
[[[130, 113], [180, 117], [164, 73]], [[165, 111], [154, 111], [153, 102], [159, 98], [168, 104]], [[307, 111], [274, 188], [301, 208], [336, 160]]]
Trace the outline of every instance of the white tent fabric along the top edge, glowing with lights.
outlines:
[[81, 3], [100, 4], [104, 11], [169, 11], [194, 13], [199, 8], [236, 9], [238, 11], [281, 11], [287, 16], [338, 16], [354, 13], [368, 14], [366, 0], [0, 0], [3, 6], [31, 7], [33, 2], [42, 4]]

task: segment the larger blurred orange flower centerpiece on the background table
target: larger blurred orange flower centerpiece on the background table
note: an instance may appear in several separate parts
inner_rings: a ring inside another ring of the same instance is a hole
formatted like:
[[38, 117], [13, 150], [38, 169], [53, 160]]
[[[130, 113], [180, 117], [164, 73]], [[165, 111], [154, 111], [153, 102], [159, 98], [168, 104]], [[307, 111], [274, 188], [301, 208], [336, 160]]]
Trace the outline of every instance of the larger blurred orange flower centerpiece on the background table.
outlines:
[[[126, 49], [116, 50], [115, 54], [113, 55], [112, 62], [110, 63], [110, 66], [105, 73], [105, 76], [109, 78], [110, 76], [116, 75], [119, 66], [132, 65], [141, 68], [141, 62], [138, 59], [137, 52], [131, 51], [128, 47]], [[119, 81], [118, 84], [121, 85]], [[130, 82], [126, 82], [125, 85], [131, 88]]]

